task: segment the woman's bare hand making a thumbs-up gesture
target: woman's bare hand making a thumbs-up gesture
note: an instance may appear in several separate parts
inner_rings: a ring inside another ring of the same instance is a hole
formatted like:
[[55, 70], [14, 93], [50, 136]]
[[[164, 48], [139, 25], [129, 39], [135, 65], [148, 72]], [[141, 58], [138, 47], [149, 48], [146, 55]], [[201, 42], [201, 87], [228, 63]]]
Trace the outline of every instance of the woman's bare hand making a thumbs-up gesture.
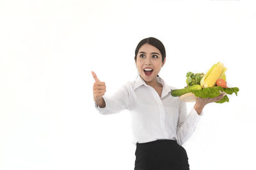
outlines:
[[100, 106], [100, 108], [104, 108], [106, 105], [102, 96], [106, 92], [105, 82], [100, 81], [97, 75], [93, 71], [92, 71], [92, 76], [95, 80], [95, 83], [93, 84], [93, 99], [95, 103], [97, 103]]

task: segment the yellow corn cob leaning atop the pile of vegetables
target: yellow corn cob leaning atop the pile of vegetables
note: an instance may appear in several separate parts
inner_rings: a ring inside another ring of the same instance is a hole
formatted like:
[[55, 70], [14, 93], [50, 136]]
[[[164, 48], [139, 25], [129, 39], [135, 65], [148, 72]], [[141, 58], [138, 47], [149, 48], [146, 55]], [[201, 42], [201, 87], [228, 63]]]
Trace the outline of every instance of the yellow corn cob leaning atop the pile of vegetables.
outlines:
[[206, 87], [213, 87], [216, 83], [216, 81], [218, 80], [218, 78], [220, 78], [221, 73], [223, 71], [223, 63], [220, 62], [218, 63], [211, 71], [211, 73], [207, 76], [207, 78], [205, 79], [205, 85], [204, 88]]

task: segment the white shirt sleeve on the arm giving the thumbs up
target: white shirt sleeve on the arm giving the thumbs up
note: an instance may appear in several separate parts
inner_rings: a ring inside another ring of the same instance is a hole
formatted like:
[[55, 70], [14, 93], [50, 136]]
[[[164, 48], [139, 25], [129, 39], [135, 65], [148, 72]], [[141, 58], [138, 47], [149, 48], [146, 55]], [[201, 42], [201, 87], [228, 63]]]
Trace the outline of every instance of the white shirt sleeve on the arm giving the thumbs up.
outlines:
[[100, 108], [97, 103], [95, 103], [95, 108], [102, 115], [109, 115], [113, 113], [119, 113], [120, 111], [129, 107], [131, 103], [131, 94], [127, 89], [127, 85], [123, 85], [120, 89], [118, 89], [115, 94], [112, 96], [102, 96], [106, 106], [104, 108]]

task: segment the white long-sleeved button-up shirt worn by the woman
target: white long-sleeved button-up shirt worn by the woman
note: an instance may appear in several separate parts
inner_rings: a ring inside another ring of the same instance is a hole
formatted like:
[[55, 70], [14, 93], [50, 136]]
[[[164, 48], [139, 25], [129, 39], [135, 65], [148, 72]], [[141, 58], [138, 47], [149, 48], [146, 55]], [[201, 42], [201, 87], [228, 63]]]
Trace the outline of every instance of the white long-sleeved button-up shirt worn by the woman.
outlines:
[[198, 115], [193, 107], [188, 114], [186, 103], [170, 93], [177, 88], [170, 87], [159, 76], [156, 78], [163, 85], [161, 97], [138, 75], [135, 81], [127, 81], [111, 97], [102, 96], [105, 108], [97, 103], [95, 108], [102, 115], [129, 110], [134, 145], [157, 139], [173, 139], [182, 145], [195, 131], [203, 111]]

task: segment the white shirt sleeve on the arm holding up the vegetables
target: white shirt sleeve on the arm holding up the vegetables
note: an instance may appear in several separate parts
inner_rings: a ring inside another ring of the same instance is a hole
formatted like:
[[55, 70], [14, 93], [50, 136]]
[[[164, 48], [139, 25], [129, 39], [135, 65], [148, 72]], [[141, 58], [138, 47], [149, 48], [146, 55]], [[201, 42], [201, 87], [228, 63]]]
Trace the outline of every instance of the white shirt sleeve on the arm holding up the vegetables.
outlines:
[[179, 145], [183, 145], [195, 131], [196, 124], [200, 121], [200, 118], [204, 114], [202, 111], [200, 115], [196, 112], [193, 107], [187, 115], [187, 106], [185, 102], [179, 102], [179, 120], [177, 124], [177, 138]]

